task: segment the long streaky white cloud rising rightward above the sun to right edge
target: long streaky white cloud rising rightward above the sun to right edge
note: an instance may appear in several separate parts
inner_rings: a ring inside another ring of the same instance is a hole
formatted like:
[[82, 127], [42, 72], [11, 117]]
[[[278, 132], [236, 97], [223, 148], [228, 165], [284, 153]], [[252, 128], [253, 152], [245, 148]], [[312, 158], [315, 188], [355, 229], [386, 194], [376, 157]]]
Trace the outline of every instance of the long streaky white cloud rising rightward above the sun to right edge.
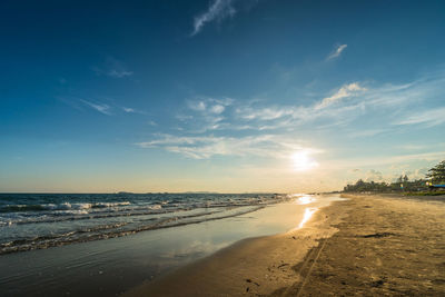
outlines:
[[[445, 82], [442, 78], [434, 78], [429, 81], [417, 80], [404, 85], [386, 83], [373, 88], [363, 87], [363, 82], [353, 82], [343, 85], [332, 96], [313, 105], [264, 106], [260, 102], [254, 102], [236, 107], [235, 111], [238, 118], [257, 122], [250, 127], [261, 130], [297, 127], [308, 122], [319, 123], [326, 120], [329, 120], [325, 123], [326, 127], [345, 126], [367, 112], [373, 112], [373, 118], [376, 118], [377, 113], [385, 117], [388, 113], [402, 113], [409, 106], [434, 100], [437, 93], [443, 92], [443, 86]], [[346, 98], [348, 100], [344, 100]], [[390, 122], [390, 120], [386, 122]], [[318, 125], [317, 128], [323, 128], [323, 126]], [[354, 128], [349, 135], [374, 136], [392, 129], [387, 126], [369, 128], [364, 130]]]

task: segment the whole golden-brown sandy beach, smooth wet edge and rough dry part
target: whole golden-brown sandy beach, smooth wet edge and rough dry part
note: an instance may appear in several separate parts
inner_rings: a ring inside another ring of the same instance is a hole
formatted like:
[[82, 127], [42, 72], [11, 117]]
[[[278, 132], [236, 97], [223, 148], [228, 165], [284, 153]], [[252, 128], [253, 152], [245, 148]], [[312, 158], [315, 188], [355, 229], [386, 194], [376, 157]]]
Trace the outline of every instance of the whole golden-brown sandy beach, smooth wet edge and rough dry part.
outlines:
[[[126, 296], [445, 296], [445, 202], [349, 196]], [[436, 198], [437, 199], [437, 198]]]

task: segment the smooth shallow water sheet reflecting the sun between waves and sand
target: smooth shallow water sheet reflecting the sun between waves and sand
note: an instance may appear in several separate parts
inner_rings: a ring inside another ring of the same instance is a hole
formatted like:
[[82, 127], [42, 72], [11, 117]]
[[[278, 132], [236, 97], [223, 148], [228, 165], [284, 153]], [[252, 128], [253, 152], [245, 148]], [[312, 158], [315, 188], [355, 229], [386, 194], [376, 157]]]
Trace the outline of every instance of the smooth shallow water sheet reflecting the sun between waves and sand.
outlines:
[[[230, 199], [231, 204], [240, 204], [239, 200]], [[118, 295], [239, 239], [298, 228], [307, 219], [307, 209], [317, 209], [339, 198], [281, 196], [279, 202], [276, 199], [269, 204], [261, 199], [257, 205], [204, 208], [205, 211], [222, 209], [217, 212], [219, 216], [224, 214], [220, 217], [216, 214], [205, 215], [209, 216], [208, 219], [201, 219], [199, 211], [202, 210], [197, 210], [199, 207], [180, 210], [195, 210], [199, 216], [170, 228], [154, 228], [107, 240], [1, 255], [0, 295]], [[177, 212], [164, 215], [169, 214]]]

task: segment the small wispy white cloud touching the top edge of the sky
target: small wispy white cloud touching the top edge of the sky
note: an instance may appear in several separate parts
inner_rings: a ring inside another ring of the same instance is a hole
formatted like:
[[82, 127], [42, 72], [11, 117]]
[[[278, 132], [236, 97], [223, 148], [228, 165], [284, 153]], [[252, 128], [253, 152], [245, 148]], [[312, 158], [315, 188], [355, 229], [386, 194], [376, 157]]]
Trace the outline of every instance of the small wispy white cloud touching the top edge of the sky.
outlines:
[[199, 33], [206, 23], [212, 21], [222, 21], [226, 18], [231, 18], [237, 12], [233, 6], [233, 0], [214, 0], [209, 8], [202, 14], [196, 16], [194, 20], [194, 31], [191, 37]]

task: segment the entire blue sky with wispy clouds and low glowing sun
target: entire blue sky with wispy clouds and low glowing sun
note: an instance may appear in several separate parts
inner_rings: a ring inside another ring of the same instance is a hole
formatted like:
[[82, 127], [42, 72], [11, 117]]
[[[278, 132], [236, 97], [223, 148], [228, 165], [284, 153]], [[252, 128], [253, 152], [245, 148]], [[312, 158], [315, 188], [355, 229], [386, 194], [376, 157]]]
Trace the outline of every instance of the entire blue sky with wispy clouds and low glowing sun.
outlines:
[[444, 1], [2, 1], [0, 191], [307, 192], [445, 159]]

